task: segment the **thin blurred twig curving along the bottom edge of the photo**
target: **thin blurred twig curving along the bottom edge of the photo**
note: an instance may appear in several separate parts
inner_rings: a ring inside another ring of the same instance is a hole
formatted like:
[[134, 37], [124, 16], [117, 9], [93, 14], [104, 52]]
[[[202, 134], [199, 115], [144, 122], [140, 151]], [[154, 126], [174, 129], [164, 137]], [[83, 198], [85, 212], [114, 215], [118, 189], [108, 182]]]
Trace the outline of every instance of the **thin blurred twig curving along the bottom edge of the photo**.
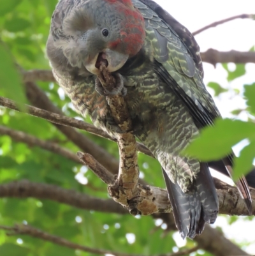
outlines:
[[[74, 250], [81, 250], [83, 252], [95, 253], [95, 254], [99, 254], [99, 255], [111, 254], [111, 255], [116, 255], [116, 256], [142, 256], [139, 254], [113, 252], [110, 250], [96, 249], [96, 248], [91, 248], [88, 246], [78, 245], [75, 243], [71, 243], [70, 241], [68, 241], [62, 237], [54, 236], [54, 235], [48, 234], [47, 232], [43, 232], [42, 230], [36, 229], [30, 225], [21, 224], [21, 225], [14, 225], [13, 227], [0, 225], [0, 229], [8, 231], [7, 235], [9, 235], [9, 236], [27, 235], [27, 236], [43, 239], [45, 241], [49, 241], [49, 242], [57, 244], [57, 245], [72, 248]], [[196, 252], [198, 249], [199, 249], [199, 247], [195, 246], [191, 249], [182, 250], [177, 253], [166, 253], [166, 254], [160, 254], [160, 255], [155, 255], [155, 256], [183, 256], [183, 255], [188, 255], [189, 253], [192, 253], [192, 252]]]

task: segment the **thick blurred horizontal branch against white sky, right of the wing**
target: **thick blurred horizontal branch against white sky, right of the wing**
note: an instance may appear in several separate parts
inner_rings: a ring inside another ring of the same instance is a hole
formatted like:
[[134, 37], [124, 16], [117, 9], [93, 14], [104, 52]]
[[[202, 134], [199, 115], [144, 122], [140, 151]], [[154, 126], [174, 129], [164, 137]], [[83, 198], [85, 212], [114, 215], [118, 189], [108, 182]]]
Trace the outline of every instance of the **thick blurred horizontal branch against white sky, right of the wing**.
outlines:
[[231, 50], [230, 52], [219, 52], [218, 50], [208, 49], [201, 52], [203, 62], [213, 64], [216, 63], [255, 63], [255, 52], [238, 52]]

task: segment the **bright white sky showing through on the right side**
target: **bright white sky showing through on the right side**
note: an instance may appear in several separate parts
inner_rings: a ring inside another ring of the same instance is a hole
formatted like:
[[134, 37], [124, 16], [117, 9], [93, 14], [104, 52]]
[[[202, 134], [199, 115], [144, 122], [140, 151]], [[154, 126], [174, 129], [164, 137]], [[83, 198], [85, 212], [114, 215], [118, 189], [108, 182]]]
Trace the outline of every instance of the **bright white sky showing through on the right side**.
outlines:
[[[179, 20], [189, 31], [194, 32], [201, 27], [207, 26], [217, 20], [226, 19], [243, 13], [255, 14], [255, 0], [154, 0], [167, 10], [175, 19]], [[210, 28], [196, 36], [196, 40], [200, 45], [201, 51], [207, 49], [217, 49], [222, 51], [240, 50], [247, 51], [255, 45], [255, 21], [248, 19], [237, 19], [220, 26]], [[230, 64], [229, 68], [235, 70], [235, 65]], [[238, 88], [242, 91], [244, 84], [252, 84], [255, 82], [255, 64], [246, 64], [247, 73], [244, 77], [235, 79], [228, 83], [226, 80], [227, 72], [220, 64], [214, 68], [211, 64], [204, 64], [205, 84], [214, 81], [221, 84], [222, 87], [228, 89]], [[208, 90], [210, 91], [210, 90]], [[210, 91], [213, 94], [213, 91]], [[230, 111], [241, 109], [245, 106], [242, 97], [235, 96], [234, 92], [230, 94], [224, 93], [219, 98], [215, 98], [215, 103], [221, 111], [223, 117], [231, 117]], [[245, 114], [240, 116], [246, 119]], [[237, 147], [238, 151], [238, 147]], [[223, 229], [226, 237], [235, 239], [238, 243], [251, 243], [250, 246], [244, 246], [243, 249], [247, 253], [255, 253], [255, 220], [252, 222], [238, 220], [229, 226], [226, 218], [219, 217], [214, 226]], [[178, 245], [184, 245], [179, 234], [176, 234], [175, 240]]]

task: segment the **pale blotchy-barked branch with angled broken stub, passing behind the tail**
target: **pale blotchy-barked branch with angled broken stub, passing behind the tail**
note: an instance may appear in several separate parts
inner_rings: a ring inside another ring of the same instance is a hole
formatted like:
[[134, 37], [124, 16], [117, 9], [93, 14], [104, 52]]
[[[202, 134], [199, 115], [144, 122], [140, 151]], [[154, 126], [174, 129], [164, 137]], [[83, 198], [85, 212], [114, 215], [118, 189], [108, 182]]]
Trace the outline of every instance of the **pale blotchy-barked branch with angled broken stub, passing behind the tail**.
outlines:
[[[93, 159], [92, 156], [89, 156], [90, 163], [86, 162], [87, 154], [79, 153], [79, 158], [85, 165], [88, 165], [100, 179], [106, 182], [105, 176], [108, 171], [104, 169], [104, 167], [100, 167], [101, 169], [98, 170], [99, 163], [96, 163], [96, 160]], [[138, 213], [142, 215], [152, 215], [153, 213], [171, 212], [171, 206], [166, 190], [137, 184], [133, 193], [133, 199], [129, 200], [128, 204], [126, 204], [126, 195], [119, 184], [115, 183], [112, 185], [111, 178], [108, 185], [110, 185], [108, 191], [113, 200], [128, 208], [129, 212], [133, 215]], [[220, 189], [217, 190], [217, 195], [219, 197], [219, 213], [228, 215], [249, 215], [244, 200], [240, 197], [237, 188], [228, 185], [224, 186], [225, 189], [222, 189], [220, 185]], [[251, 190], [251, 196], [253, 199], [252, 214], [255, 215], [255, 190]]]

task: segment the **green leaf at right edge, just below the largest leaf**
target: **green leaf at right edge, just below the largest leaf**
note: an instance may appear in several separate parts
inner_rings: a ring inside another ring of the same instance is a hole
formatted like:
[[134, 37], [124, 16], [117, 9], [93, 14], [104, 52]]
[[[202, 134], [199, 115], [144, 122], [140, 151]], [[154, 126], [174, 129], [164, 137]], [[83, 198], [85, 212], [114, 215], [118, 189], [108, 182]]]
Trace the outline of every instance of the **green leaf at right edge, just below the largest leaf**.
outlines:
[[242, 175], [247, 174], [252, 170], [252, 162], [255, 158], [255, 140], [252, 140], [249, 145], [245, 146], [240, 151], [240, 156], [235, 158], [233, 168], [233, 179], [237, 180]]

